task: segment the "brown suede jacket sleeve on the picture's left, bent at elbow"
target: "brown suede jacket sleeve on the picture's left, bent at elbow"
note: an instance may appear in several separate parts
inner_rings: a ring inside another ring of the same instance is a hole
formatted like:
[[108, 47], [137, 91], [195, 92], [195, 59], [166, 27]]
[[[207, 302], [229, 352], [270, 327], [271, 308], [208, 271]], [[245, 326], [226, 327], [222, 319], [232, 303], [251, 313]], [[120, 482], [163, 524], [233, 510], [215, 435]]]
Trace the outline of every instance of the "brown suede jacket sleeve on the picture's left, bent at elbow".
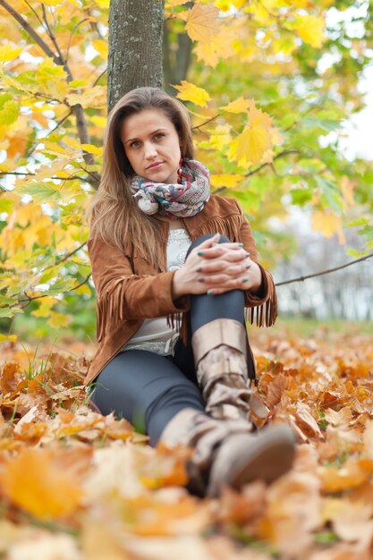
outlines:
[[172, 297], [173, 272], [135, 275], [131, 259], [100, 238], [90, 238], [89, 259], [97, 291], [97, 340], [106, 322], [165, 317], [187, 310], [189, 298]]

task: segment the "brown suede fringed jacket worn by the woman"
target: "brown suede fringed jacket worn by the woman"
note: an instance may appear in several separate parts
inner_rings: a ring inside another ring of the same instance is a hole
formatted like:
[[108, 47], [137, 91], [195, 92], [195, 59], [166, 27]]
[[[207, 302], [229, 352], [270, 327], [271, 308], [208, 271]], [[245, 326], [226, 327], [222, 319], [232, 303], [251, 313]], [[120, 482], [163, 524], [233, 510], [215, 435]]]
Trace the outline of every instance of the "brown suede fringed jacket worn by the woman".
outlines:
[[[194, 241], [207, 233], [223, 233], [231, 242], [242, 242], [250, 259], [258, 262], [258, 251], [249, 222], [234, 199], [212, 195], [205, 208], [196, 216], [182, 220]], [[154, 269], [136, 250], [125, 253], [100, 238], [89, 238], [89, 259], [97, 291], [96, 355], [84, 384], [89, 385], [99, 372], [120, 352], [123, 345], [139, 330], [145, 318], [168, 317], [189, 310], [189, 296], [176, 301], [172, 298], [173, 272], [166, 272], [166, 244], [169, 225], [162, 222], [164, 259]], [[259, 264], [259, 263], [258, 263]], [[250, 323], [270, 327], [277, 315], [276, 288], [272, 276], [259, 265], [262, 284], [259, 293], [245, 292], [245, 318]], [[185, 322], [182, 321], [182, 328]], [[255, 368], [254, 364], [251, 364]]]

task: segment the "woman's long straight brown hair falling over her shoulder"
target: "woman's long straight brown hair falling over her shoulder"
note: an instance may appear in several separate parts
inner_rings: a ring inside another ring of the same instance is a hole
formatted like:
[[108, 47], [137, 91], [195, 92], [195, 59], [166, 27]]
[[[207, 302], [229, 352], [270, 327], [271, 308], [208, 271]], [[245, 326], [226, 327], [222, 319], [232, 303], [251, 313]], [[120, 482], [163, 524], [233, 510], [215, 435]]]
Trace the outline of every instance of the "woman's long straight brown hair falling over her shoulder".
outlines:
[[141, 212], [132, 199], [130, 184], [134, 171], [120, 136], [125, 118], [151, 108], [161, 109], [174, 123], [182, 155], [194, 157], [191, 123], [182, 103], [162, 89], [132, 89], [119, 99], [108, 115], [101, 182], [89, 203], [87, 215], [91, 236], [99, 236], [123, 252], [129, 243], [157, 267], [160, 259], [157, 240], [161, 225], [157, 218]]

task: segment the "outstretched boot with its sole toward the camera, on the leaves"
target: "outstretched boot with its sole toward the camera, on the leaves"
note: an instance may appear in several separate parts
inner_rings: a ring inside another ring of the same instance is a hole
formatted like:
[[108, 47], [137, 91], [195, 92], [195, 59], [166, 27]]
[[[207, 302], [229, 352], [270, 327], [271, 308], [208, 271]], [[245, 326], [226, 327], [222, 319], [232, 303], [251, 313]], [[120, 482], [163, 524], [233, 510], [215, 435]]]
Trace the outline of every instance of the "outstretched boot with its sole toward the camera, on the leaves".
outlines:
[[194, 449], [187, 464], [188, 488], [197, 496], [219, 496], [225, 486], [242, 488], [253, 479], [271, 482], [292, 466], [291, 428], [274, 426], [250, 434], [247, 423], [215, 420], [184, 409], [167, 424], [160, 441]]

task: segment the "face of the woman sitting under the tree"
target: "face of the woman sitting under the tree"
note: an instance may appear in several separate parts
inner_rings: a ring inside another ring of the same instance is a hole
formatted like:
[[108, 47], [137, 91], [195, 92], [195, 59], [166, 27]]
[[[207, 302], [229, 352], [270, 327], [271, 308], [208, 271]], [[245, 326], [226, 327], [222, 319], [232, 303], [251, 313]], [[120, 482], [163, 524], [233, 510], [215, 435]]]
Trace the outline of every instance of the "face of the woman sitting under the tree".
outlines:
[[144, 109], [124, 119], [121, 140], [135, 174], [154, 182], [177, 182], [180, 140], [161, 109]]

